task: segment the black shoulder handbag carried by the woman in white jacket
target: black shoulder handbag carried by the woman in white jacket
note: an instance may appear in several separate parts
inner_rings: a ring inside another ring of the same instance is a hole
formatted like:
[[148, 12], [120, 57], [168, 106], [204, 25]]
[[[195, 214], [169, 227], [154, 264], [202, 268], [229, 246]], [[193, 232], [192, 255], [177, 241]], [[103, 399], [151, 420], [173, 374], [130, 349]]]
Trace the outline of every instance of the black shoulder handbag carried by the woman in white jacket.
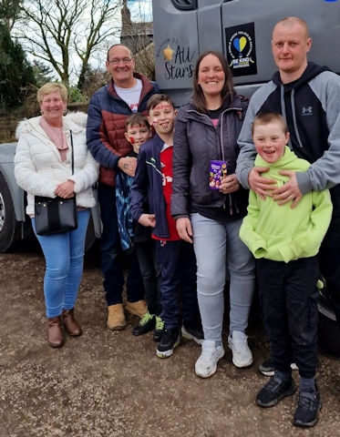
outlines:
[[[72, 175], [74, 150], [71, 134]], [[77, 229], [77, 203], [73, 198], [46, 198], [35, 196], [35, 221], [37, 235], [52, 235]]]

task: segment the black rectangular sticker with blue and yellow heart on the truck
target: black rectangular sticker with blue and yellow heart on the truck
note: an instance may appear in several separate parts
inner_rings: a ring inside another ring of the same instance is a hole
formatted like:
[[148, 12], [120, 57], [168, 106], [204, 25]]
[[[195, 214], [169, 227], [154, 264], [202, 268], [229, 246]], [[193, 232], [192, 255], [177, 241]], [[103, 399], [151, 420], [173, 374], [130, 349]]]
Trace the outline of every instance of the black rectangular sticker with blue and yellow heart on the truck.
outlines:
[[254, 24], [226, 27], [227, 60], [232, 76], [256, 75]]

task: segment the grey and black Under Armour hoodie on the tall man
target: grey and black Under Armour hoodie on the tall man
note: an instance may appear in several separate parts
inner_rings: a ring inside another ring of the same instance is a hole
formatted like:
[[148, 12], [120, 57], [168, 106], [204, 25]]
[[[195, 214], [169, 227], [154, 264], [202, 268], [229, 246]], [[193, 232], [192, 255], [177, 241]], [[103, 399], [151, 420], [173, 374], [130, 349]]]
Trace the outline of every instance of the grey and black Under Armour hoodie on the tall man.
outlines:
[[276, 72], [253, 94], [238, 140], [236, 175], [245, 188], [256, 156], [252, 121], [267, 111], [283, 115], [291, 134], [289, 146], [312, 163], [307, 171], [296, 173], [301, 192], [332, 188], [334, 214], [340, 216], [340, 76], [309, 62], [294, 82], [283, 85]]

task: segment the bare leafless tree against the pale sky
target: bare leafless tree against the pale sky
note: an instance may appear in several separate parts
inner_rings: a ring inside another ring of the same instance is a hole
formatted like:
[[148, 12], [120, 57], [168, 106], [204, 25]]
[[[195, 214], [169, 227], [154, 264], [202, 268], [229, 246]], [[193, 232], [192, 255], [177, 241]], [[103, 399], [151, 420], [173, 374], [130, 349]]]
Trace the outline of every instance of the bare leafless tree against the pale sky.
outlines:
[[[25, 0], [25, 21], [16, 25], [26, 52], [82, 88], [90, 59], [118, 41], [122, 0]], [[101, 57], [102, 62], [102, 57]]]

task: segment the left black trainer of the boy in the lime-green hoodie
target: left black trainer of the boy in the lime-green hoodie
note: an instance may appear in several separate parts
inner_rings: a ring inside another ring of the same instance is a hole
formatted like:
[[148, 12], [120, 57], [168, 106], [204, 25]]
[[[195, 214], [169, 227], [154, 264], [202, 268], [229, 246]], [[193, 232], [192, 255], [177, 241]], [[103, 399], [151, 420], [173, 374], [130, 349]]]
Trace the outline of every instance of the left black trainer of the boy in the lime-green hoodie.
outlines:
[[292, 396], [296, 391], [294, 381], [277, 380], [274, 376], [257, 393], [256, 403], [260, 407], [273, 407], [286, 396]]

